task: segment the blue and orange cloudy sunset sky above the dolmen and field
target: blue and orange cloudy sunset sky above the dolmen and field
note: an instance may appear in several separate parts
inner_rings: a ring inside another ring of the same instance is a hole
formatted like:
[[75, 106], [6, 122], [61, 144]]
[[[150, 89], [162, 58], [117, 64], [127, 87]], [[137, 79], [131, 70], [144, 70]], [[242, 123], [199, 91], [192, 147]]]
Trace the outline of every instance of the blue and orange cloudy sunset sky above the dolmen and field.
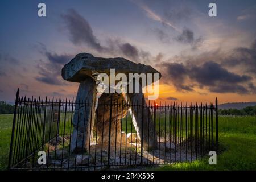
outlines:
[[255, 1], [1, 1], [0, 20], [0, 100], [75, 96], [60, 71], [80, 52], [152, 65], [162, 100], [256, 100]]

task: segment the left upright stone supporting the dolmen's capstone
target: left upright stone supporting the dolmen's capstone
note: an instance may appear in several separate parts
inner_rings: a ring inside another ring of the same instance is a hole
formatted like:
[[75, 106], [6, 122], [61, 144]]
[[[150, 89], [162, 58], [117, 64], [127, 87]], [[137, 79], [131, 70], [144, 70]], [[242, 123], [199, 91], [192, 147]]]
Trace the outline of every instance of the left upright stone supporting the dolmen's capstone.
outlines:
[[87, 77], [80, 82], [76, 97], [75, 114], [73, 116], [73, 133], [71, 137], [71, 151], [87, 151], [89, 148], [90, 134], [94, 122], [96, 101], [96, 83]]

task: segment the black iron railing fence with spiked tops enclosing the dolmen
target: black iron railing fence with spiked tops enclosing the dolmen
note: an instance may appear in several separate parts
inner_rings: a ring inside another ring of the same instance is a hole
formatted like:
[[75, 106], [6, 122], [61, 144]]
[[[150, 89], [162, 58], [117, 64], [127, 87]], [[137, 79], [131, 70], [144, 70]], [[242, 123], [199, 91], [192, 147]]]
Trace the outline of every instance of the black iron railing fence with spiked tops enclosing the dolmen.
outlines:
[[[81, 152], [71, 150], [72, 119], [76, 104], [100, 108], [96, 109], [94, 121], [91, 121], [94, 124], [90, 130], [89, 148]], [[103, 114], [109, 113], [112, 119], [118, 118], [117, 112], [115, 113], [117, 107], [122, 107], [122, 112], [124, 108], [127, 110], [125, 117], [119, 119], [120, 125], [117, 124], [118, 119], [114, 122], [98, 121], [101, 110], [105, 110]], [[18, 91], [9, 169], [90, 170], [128, 165], [169, 164], [192, 161], [208, 155], [211, 150], [218, 150], [217, 98], [215, 105], [178, 105], [176, 102], [133, 105], [137, 110], [150, 110], [147, 114], [151, 115], [154, 122], [154, 139], [156, 137], [156, 143], [151, 148], [144, 148], [142, 142], [145, 140], [140, 140], [138, 135], [140, 127], [143, 138], [143, 125], [146, 125], [147, 121], [140, 122], [142, 126], [136, 125], [137, 118], [133, 117], [132, 111], [129, 112], [130, 107], [129, 104], [112, 100], [111, 103], [101, 106], [96, 103], [68, 101], [67, 98], [65, 101], [54, 98], [41, 100], [20, 97]], [[108, 129], [107, 136], [103, 134], [104, 129]], [[108, 139], [105, 140], [104, 137]], [[42, 156], [38, 155], [39, 151], [46, 154], [45, 164], [38, 163], [39, 157]]]

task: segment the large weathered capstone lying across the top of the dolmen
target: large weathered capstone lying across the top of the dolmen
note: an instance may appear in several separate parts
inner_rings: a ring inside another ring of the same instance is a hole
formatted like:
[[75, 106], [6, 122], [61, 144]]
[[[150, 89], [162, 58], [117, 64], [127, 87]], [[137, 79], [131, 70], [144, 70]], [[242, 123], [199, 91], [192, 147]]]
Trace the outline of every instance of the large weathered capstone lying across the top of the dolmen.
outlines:
[[94, 57], [90, 53], [79, 53], [68, 64], [65, 64], [62, 69], [62, 77], [64, 80], [72, 82], [81, 82], [86, 77], [92, 77], [97, 80], [99, 73], [110, 75], [110, 69], [113, 68], [115, 69], [115, 74], [159, 73], [159, 79], [161, 77], [161, 73], [149, 65], [137, 64], [122, 57]]

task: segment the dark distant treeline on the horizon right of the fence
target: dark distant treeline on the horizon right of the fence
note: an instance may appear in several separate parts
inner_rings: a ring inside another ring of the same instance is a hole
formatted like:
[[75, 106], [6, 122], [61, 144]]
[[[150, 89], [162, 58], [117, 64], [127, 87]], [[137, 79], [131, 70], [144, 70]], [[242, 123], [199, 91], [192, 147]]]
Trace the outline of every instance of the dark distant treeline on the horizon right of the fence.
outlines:
[[243, 109], [219, 109], [220, 115], [256, 115], [256, 106], [247, 106]]

